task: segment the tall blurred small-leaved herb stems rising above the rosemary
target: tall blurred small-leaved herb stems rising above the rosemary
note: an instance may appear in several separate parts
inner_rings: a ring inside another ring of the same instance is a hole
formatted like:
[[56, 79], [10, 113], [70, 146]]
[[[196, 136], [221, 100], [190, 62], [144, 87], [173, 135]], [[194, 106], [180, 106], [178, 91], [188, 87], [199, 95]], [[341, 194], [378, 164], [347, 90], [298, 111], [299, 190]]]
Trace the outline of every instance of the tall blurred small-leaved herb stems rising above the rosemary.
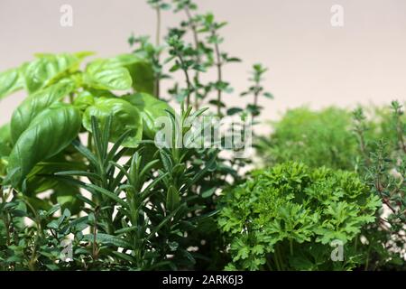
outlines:
[[[163, 9], [161, 1], [155, 2], [150, 3], [152, 8]], [[248, 89], [248, 93], [253, 94], [254, 97], [252, 104], [247, 105], [245, 109], [227, 107], [223, 95], [224, 93], [231, 93], [233, 88], [226, 81], [223, 68], [228, 63], [240, 62], [240, 60], [221, 50], [220, 46], [224, 42], [224, 38], [221, 36], [220, 30], [226, 26], [226, 22], [217, 22], [211, 13], [197, 13], [198, 5], [193, 1], [172, 0], [172, 3], [173, 12], [183, 12], [186, 19], [180, 23], [179, 27], [171, 28], [164, 37], [170, 56], [163, 63], [157, 61], [161, 53], [166, 51], [165, 46], [159, 46], [159, 38], [157, 38], [155, 46], [146, 41], [145, 37], [134, 38], [131, 36], [129, 39], [131, 45], [139, 43], [137, 53], [145, 51], [145, 54], [150, 56], [155, 70], [155, 79], [158, 82], [156, 86], [159, 87], [161, 79], [167, 79], [168, 75], [162, 71], [165, 64], [170, 64], [169, 72], [173, 73], [180, 70], [186, 83], [185, 86], [182, 86], [175, 81], [169, 89], [169, 94], [177, 101], [185, 101], [188, 106], [193, 105], [195, 109], [204, 104], [212, 105], [216, 107], [217, 116], [224, 116], [226, 113], [227, 115], [234, 115], [243, 111], [258, 116], [261, 107], [257, 98], [260, 95], [272, 98], [270, 93], [263, 91], [261, 85], [266, 69], [261, 64], [254, 65], [254, 76], [250, 79], [254, 84]], [[167, 8], [168, 5], [165, 4], [165, 10], [168, 10]], [[157, 35], [161, 35], [161, 14], [157, 15], [157, 19]], [[190, 36], [190, 41], [188, 36]], [[217, 79], [207, 80], [207, 78], [202, 77], [204, 73], [210, 70], [216, 72]], [[156, 90], [155, 95], [157, 95]]]

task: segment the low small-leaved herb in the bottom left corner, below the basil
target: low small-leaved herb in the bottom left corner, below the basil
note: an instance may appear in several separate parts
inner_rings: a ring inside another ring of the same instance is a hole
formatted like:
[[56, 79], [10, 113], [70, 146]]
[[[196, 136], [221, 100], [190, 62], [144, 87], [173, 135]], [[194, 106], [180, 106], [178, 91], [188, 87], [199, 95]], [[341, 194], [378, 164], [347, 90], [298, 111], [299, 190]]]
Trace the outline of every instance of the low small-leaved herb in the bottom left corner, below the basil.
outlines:
[[[1, 195], [1, 270], [88, 269], [91, 248], [82, 233], [91, 225], [88, 216], [72, 218], [59, 204], [35, 209], [30, 198], [5, 188]], [[27, 219], [34, 225], [27, 226]]]

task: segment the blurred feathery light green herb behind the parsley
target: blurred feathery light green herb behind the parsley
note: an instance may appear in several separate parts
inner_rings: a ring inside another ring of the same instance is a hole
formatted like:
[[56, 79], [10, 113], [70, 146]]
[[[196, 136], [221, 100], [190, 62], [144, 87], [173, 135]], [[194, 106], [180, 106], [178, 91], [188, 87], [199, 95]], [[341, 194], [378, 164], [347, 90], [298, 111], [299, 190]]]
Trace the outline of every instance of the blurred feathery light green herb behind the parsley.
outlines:
[[272, 125], [271, 135], [259, 138], [257, 153], [265, 165], [296, 161], [314, 168], [352, 170], [358, 145], [351, 126], [351, 114], [345, 109], [294, 108]]

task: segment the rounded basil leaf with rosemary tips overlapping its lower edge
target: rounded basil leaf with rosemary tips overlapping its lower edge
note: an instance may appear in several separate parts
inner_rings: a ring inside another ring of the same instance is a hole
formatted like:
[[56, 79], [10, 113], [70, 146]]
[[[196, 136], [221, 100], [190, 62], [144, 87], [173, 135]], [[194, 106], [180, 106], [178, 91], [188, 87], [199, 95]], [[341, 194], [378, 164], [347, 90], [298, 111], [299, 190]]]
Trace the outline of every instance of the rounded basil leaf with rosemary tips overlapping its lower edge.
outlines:
[[91, 117], [97, 117], [101, 126], [105, 126], [106, 119], [111, 116], [112, 128], [110, 141], [115, 142], [126, 131], [132, 133], [125, 138], [123, 146], [136, 147], [143, 137], [143, 118], [134, 106], [121, 98], [97, 98], [95, 104], [86, 109], [83, 116], [83, 126], [92, 132]]

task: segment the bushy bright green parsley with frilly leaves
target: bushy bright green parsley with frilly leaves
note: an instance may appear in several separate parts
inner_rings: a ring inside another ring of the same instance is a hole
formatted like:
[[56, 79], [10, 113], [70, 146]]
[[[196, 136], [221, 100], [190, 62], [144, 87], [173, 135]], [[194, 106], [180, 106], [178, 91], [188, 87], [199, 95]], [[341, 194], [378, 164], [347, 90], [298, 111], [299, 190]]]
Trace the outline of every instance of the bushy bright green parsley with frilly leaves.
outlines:
[[[353, 269], [368, 258], [360, 242], [381, 206], [355, 173], [282, 163], [227, 191], [218, 225], [229, 239], [227, 269]], [[333, 262], [330, 244], [344, 244]]]

